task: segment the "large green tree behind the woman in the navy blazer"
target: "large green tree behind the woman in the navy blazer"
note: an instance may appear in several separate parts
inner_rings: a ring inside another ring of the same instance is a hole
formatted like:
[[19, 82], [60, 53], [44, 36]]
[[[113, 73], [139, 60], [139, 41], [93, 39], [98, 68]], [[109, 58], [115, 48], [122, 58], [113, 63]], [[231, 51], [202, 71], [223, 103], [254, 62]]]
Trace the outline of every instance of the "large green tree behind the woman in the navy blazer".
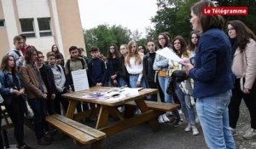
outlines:
[[[156, 15], [151, 18], [151, 22], [154, 23], [153, 28], [146, 28], [147, 38], [157, 39], [160, 32], [169, 32], [172, 37], [181, 35], [185, 38], [189, 38], [189, 32], [192, 30], [192, 26], [189, 23], [190, 19], [190, 7], [193, 3], [199, 0], [157, 0], [158, 11]], [[226, 21], [229, 20], [241, 20], [243, 21], [253, 32], [256, 32], [256, 1], [255, 0], [225, 0], [215, 1], [218, 6], [230, 6], [230, 7], [248, 7], [247, 16], [230, 16], [225, 15]]]

